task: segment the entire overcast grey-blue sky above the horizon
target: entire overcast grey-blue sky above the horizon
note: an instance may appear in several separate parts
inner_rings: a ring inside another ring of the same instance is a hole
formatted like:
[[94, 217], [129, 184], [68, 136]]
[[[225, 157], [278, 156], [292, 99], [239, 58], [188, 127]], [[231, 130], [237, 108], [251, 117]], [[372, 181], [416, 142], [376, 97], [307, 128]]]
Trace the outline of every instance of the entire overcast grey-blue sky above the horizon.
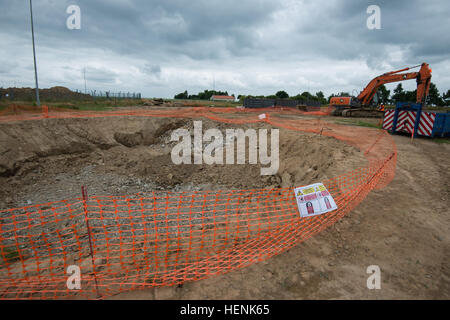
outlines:
[[[381, 29], [369, 30], [369, 5]], [[69, 5], [81, 29], [69, 30]], [[33, 0], [40, 87], [172, 98], [358, 94], [375, 76], [428, 62], [450, 89], [448, 0]], [[34, 86], [28, 0], [0, 0], [0, 86]], [[415, 82], [403, 83], [414, 89]], [[388, 86], [393, 89], [395, 84]]]

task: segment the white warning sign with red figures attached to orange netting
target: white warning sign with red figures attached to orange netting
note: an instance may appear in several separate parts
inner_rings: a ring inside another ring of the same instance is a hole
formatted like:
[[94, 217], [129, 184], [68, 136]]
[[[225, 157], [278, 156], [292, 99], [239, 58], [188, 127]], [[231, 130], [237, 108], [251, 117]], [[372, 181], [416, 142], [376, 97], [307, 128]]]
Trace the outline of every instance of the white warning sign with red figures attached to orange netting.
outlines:
[[323, 183], [299, 187], [294, 190], [301, 217], [311, 217], [337, 209], [333, 197]]

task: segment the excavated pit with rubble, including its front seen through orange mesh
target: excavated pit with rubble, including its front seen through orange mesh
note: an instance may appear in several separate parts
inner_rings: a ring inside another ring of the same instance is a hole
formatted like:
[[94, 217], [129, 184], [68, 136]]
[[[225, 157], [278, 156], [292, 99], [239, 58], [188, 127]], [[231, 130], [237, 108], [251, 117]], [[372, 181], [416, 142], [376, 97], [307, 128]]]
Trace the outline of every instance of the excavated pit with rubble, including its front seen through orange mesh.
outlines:
[[[203, 129], [211, 128], [271, 126], [203, 120]], [[362, 152], [342, 141], [280, 129], [274, 175], [262, 176], [262, 165], [248, 161], [175, 165], [171, 151], [177, 142], [171, 136], [178, 129], [193, 132], [193, 120], [108, 117], [0, 125], [6, 252], [0, 278], [15, 281], [17, 287], [7, 290], [11, 297], [28, 285], [21, 284], [24, 276], [39, 282], [64, 275], [69, 265], [81, 268], [89, 288], [84, 293], [91, 298], [94, 283], [111, 295], [135, 288], [133, 283], [180, 284], [204, 277], [204, 268], [232, 270], [260, 261], [281, 244], [287, 247], [326, 227], [299, 219], [294, 187], [366, 164]], [[258, 241], [257, 248], [248, 249]], [[54, 285], [46, 291], [65, 290], [58, 287], [65, 280]]]

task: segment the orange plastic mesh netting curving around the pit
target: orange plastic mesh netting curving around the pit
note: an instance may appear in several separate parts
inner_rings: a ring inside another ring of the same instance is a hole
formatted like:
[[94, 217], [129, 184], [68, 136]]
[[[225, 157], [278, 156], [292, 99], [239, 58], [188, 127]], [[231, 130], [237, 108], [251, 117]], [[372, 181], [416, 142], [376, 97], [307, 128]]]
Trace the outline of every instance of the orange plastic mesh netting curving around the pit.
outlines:
[[[265, 112], [263, 120], [258, 114]], [[104, 298], [123, 291], [181, 284], [268, 259], [335, 223], [395, 174], [397, 151], [382, 130], [342, 126], [292, 109], [180, 108], [3, 114], [0, 121], [148, 116], [208, 118], [311, 132], [361, 150], [367, 166], [321, 181], [338, 210], [300, 218], [292, 188], [154, 191], [94, 196], [0, 211], [0, 297]], [[289, 115], [289, 117], [287, 117]], [[298, 115], [298, 119], [296, 117]], [[81, 269], [69, 290], [67, 269]]]

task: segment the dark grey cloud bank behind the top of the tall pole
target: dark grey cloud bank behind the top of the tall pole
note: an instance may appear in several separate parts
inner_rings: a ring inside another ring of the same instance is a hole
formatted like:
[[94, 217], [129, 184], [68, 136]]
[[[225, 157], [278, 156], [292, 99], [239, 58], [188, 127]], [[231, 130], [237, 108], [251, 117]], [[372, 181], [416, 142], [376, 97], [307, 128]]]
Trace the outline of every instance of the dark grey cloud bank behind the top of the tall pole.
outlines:
[[[65, 27], [66, 8], [71, 4], [81, 8], [81, 30]], [[6, 1], [2, 6], [3, 30], [28, 37], [28, 2]], [[222, 57], [223, 50], [237, 54], [237, 48], [251, 47], [252, 28], [270, 20], [276, 7], [270, 0], [79, 0], [34, 1], [33, 9], [41, 45], [95, 46], [136, 55], [142, 55], [143, 50], [170, 49], [202, 59]], [[210, 50], [208, 41], [214, 39], [223, 41], [217, 50]]]

